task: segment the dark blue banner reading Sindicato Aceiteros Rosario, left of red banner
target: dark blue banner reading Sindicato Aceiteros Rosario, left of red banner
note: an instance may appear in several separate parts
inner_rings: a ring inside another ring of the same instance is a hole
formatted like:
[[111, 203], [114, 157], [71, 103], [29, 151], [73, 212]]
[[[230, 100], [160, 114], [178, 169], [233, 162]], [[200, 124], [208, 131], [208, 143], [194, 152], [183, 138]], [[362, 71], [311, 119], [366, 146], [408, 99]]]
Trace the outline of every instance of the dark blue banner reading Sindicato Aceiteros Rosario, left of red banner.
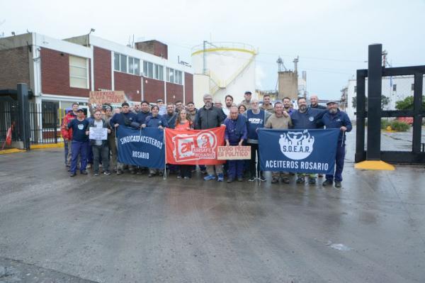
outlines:
[[124, 164], [164, 169], [164, 130], [135, 130], [119, 126], [117, 130], [118, 161]]

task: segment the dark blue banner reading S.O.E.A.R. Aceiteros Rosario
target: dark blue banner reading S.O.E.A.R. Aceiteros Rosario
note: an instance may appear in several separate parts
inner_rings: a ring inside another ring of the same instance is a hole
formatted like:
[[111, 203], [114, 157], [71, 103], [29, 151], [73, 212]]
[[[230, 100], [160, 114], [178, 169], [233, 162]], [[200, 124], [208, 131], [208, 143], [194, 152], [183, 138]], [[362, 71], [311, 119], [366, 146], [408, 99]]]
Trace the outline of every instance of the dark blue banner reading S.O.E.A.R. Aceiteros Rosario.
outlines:
[[261, 129], [261, 170], [334, 174], [339, 131]]

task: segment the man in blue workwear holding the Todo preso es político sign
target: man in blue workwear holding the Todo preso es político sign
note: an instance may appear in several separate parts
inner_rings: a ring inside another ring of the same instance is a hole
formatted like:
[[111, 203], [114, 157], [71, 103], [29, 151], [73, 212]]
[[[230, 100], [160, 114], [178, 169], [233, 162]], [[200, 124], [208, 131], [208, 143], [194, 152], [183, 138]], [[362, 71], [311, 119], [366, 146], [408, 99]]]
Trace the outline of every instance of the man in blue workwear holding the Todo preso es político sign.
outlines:
[[[229, 118], [225, 119], [226, 131], [225, 140], [226, 146], [239, 145], [242, 146], [246, 140], [246, 118], [239, 114], [237, 106], [230, 107]], [[227, 172], [227, 183], [231, 183], [237, 178], [242, 182], [242, 174], [244, 174], [245, 160], [228, 160], [229, 170]]]

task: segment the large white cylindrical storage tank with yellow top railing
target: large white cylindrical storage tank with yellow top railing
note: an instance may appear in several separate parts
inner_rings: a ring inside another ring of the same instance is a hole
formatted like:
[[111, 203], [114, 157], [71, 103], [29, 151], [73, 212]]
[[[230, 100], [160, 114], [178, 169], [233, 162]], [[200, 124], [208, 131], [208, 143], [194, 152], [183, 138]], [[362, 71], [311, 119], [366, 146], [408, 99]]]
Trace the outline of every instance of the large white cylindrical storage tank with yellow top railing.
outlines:
[[234, 103], [244, 99], [249, 90], [255, 95], [255, 57], [253, 46], [244, 43], [208, 43], [192, 48], [193, 99], [203, 105], [203, 95], [212, 94], [225, 104], [230, 94]]

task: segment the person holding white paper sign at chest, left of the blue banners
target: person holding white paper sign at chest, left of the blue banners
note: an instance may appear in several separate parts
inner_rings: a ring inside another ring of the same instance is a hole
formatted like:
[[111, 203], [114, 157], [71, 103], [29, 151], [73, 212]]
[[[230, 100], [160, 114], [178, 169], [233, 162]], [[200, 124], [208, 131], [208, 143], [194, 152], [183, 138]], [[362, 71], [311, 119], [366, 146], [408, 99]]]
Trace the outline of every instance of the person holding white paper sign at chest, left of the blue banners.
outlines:
[[[94, 135], [94, 129], [101, 128], [102, 137], [98, 138]], [[94, 119], [89, 122], [89, 131], [86, 131], [86, 135], [89, 135], [91, 150], [93, 152], [93, 174], [94, 176], [99, 175], [99, 163], [102, 158], [102, 169], [103, 174], [110, 175], [109, 172], [109, 146], [108, 146], [108, 133], [111, 133], [111, 129], [108, 129], [108, 124], [102, 118], [102, 112], [100, 110], [94, 111]]]

